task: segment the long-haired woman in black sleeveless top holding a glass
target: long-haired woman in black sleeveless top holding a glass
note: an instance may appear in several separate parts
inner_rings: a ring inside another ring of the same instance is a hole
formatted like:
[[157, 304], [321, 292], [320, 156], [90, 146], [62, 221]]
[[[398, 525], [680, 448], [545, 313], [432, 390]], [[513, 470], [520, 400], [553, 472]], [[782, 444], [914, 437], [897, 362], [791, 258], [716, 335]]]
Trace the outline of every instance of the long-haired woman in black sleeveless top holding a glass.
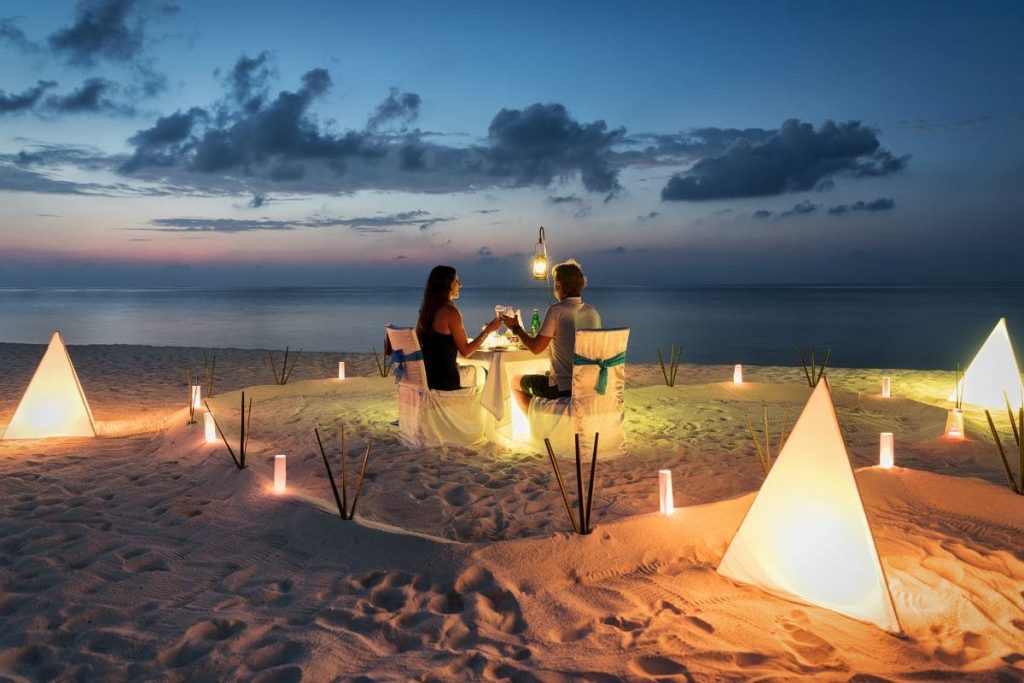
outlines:
[[[462, 323], [462, 313], [452, 303], [453, 299], [459, 298], [461, 289], [459, 275], [450, 265], [434, 266], [427, 276], [416, 334], [423, 349], [427, 386], [431, 389], [453, 391], [464, 384], [472, 385], [471, 382], [461, 381], [457, 354], [469, 357], [480, 348], [484, 338], [502, 325], [501, 318], [496, 317], [487, 323], [476, 339], [470, 341]], [[475, 371], [475, 368], [472, 370]]]

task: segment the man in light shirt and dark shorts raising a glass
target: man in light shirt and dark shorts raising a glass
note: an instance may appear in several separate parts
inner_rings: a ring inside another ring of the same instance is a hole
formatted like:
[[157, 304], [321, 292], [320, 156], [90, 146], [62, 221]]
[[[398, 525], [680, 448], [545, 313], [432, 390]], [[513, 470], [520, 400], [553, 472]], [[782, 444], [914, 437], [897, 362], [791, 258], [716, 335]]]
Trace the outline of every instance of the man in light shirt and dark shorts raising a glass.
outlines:
[[601, 327], [597, 310], [583, 302], [587, 279], [580, 264], [569, 259], [556, 265], [552, 274], [558, 303], [548, 308], [536, 337], [526, 334], [516, 317], [502, 316], [502, 322], [512, 334], [517, 335], [532, 353], [543, 353], [551, 347], [551, 375], [520, 375], [512, 380], [513, 395], [525, 414], [529, 413], [529, 401], [534, 396], [561, 398], [571, 394], [575, 331]]

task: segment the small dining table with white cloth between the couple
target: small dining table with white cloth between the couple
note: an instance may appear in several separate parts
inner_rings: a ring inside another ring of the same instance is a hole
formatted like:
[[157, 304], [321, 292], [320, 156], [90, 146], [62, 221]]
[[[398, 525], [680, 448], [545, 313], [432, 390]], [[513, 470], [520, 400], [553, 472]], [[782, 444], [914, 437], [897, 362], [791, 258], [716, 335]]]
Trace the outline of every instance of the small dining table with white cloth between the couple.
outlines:
[[487, 429], [488, 437], [503, 445], [512, 445], [528, 439], [528, 418], [512, 400], [512, 378], [517, 375], [543, 375], [549, 372], [551, 370], [549, 353], [545, 351], [535, 354], [515, 346], [493, 346], [481, 348], [462, 361], [486, 370], [480, 403], [493, 419], [493, 424]]

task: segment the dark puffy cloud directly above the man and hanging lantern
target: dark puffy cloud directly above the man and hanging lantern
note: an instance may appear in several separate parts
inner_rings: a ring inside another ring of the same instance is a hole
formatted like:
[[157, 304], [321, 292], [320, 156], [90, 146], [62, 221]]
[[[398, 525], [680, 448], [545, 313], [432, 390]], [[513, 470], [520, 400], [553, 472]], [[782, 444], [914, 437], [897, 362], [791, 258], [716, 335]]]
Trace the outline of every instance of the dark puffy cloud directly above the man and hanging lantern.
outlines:
[[625, 135], [625, 128], [609, 131], [604, 121], [581, 124], [562, 104], [538, 103], [499, 112], [481, 154], [488, 172], [519, 185], [548, 186], [579, 175], [588, 191], [610, 195], [621, 189], [612, 147]]

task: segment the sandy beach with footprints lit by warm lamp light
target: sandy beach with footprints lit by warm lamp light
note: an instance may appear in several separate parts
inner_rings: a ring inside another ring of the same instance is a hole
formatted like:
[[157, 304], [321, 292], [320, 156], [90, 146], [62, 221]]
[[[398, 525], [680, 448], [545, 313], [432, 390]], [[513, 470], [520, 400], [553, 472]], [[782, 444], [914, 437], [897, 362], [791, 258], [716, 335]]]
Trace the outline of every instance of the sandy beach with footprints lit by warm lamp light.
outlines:
[[[0, 429], [43, 349], [0, 344]], [[777, 434], [788, 407], [792, 428], [800, 367], [734, 386], [731, 366], [684, 365], [667, 387], [629, 365], [629, 455], [599, 462], [596, 528], [577, 537], [546, 457], [401, 445], [369, 354], [303, 353], [276, 386], [265, 351], [218, 349], [229, 435], [239, 392], [254, 400], [240, 471], [186, 424], [202, 349], [69, 350], [99, 437], [0, 441], [0, 680], [1024, 679], [1024, 497], [981, 411], [941, 438], [951, 372], [892, 371], [890, 399], [882, 371], [827, 373], [897, 637], [715, 571], [764, 480], [746, 419], [766, 404]], [[337, 464], [342, 425], [352, 469], [370, 445], [354, 521], [313, 434]]]

